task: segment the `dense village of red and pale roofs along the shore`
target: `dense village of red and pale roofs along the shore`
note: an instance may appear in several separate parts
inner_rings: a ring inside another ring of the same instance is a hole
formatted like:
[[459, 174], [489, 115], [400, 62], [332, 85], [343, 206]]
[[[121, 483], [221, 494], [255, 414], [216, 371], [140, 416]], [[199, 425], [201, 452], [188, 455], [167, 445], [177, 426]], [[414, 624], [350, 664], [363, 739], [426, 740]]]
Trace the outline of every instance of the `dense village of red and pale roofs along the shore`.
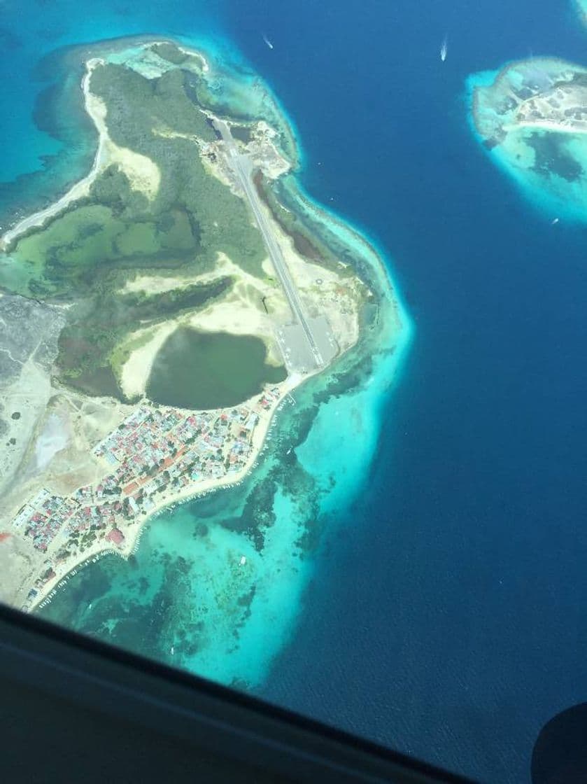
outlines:
[[170, 495], [191, 487], [195, 493], [202, 481], [221, 484], [244, 470], [253, 457], [255, 427], [279, 396], [275, 387], [247, 405], [216, 411], [150, 403], [136, 408], [93, 449], [104, 468], [97, 484], [68, 496], [42, 488], [13, 518], [13, 527], [47, 555], [27, 604], [85, 553], [128, 550], [129, 527], [172, 503]]

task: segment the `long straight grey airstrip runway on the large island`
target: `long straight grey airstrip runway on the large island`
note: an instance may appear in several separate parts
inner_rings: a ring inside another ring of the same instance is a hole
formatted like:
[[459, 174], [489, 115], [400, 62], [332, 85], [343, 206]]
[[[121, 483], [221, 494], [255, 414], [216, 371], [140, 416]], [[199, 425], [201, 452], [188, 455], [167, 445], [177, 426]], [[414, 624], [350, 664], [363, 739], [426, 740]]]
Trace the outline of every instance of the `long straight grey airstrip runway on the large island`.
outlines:
[[277, 277], [281, 281], [281, 286], [283, 287], [285, 296], [288, 299], [288, 304], [292, 310], [293, 319], [302, 327], [310, 347], [310, 351], [312, 352], [313, 358], [316, 361], [316, 365], [317, 367], [321, 368], [324, 365], [324, 359], [322, 358], [321, 352], [317, 347], [312, 329], [310, 328], [310, 325], [306, 319], [306, 315], [304, 314], [303, 305], [299, 299], [297, 286], [295, 285], [294, 281], [292, 281], [292, 276], [289, 273], [288, 267], [285, 263], [279, 243], [275, 239], [269, 221], [263, 212], [259, 194], [257, 193], [255, 185], [252, 182], [252, 163], [247, 155], [241, 155], [239, 153], [233, 136], [230, 133], [230, 128], [228, 125], [226, 125], [226, 122], [223, 122], [223, 120], [216, 120], [214, 124], [222, 135], [223, 142], [226, 144], [226, 149], [233, 165], [234, 173], [237, 175], [238, 180], [241, 183], [241, 187], [245, 192], [245, 196], [249, 205], [251, 205], [257, 226], [263, 235], [266, 249], [269, 251], [271, 261], [273, 262], [275, 271], [277, 272]]

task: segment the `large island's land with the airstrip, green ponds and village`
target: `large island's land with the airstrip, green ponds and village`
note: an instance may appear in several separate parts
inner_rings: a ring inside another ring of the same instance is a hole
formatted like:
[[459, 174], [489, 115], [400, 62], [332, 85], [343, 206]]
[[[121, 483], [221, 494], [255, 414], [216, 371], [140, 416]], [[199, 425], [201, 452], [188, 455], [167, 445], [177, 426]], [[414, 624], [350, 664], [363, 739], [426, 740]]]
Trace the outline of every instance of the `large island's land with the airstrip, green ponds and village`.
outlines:
[[176, 42], [96, 49], [92, 170], [2, 236], [0, 600], [27, 612], [164, 507], [240, 483], [374, 318], [342, 240], [280, 201], [291, 129], [216, 79]]

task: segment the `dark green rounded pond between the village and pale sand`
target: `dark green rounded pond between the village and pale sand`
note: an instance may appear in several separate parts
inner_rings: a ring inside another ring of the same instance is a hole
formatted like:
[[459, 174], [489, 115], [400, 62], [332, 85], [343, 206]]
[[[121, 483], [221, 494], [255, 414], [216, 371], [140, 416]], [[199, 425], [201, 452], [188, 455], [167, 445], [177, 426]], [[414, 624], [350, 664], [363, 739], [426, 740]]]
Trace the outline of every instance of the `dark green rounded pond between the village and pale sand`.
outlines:
[[266, 346], [254, 336], [197, 332], [180, 327], [155, 358], [147, 397], [181, 408], [226, 408], [286, 377], [266, 363]]

